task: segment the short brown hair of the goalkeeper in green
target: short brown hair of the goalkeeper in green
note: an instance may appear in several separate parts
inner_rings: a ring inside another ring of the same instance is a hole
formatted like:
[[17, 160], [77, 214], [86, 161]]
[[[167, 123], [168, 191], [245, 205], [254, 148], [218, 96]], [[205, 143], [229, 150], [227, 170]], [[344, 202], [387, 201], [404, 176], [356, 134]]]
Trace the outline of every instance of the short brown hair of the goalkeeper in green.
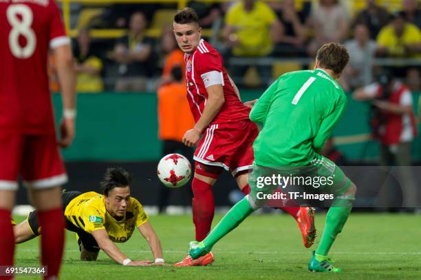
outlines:
[[342, 73], [349, 61], [349, 54], [344, 45], [329, 43], [323, 45], [316, 54], [320, 67], [330, 69], [336, 74]]

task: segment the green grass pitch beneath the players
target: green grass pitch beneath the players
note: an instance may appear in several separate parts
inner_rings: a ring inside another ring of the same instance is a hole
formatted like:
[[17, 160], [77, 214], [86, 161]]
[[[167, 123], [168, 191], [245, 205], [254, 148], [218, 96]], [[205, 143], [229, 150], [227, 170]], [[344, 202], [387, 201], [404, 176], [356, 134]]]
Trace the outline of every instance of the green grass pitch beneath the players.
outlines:
[[[216, 216], [215, 222], [220, 218]], [[324, 214], [316, 215], [319, 235], [324, 219]], [[215, 262], [206, 267], [125, 267], [102, 252], [98, 261], [80, 261], [74, 233], [67, 231], [61, 279], [421, 279], [420, 222], [419, 215], [352, 214], [331, 250], [336, 266], [343, 269], [341, 275], [308, 272], [311, 249], [303, 247], [288, 215], [250, 216], [215, 246]], [[180, 261], [194, 236], [191, 216], [152, 216], [151, 224], [165, 260]], [[314, 248], [319, 240], [320, 236]], [[118, 246], [131, 259], [152, 259], [138, 232]], [[16, 263], [39, 266], [38, 238], [17, 246]]]

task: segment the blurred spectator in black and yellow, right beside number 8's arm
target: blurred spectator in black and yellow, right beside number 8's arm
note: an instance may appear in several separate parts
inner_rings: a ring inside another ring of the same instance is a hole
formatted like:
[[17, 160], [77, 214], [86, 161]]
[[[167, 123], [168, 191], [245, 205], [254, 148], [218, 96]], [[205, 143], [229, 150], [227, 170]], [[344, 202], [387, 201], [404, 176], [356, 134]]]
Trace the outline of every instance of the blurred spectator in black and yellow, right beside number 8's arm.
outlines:
[[103, 91], [102, 60], [92, 53], [91, 37], [87, 29], [79, 30], [74, 58], [74, 70], [77, 74], [76, 91], [83, 93], [100, 93]]

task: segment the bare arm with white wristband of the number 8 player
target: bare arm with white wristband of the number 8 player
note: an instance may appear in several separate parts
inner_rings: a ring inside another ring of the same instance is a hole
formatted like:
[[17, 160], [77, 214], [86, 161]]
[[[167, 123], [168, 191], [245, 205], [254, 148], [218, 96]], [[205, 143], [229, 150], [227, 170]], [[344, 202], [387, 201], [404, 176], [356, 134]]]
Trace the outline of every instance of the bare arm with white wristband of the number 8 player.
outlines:
[[76, 78], [70, 45], [61, 45], [54, 49], [58, 80], [63, 97], [63, 119], [60, 123], [61, 139], [58, 142], [63, 148], [68, 147], [74, 138], [76, 117]]

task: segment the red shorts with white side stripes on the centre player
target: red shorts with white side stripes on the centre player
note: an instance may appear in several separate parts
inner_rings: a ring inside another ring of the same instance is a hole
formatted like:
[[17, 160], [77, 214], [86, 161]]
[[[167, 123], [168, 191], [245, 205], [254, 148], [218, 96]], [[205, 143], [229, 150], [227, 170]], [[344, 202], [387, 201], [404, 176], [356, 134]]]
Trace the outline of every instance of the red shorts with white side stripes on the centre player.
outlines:
[[248, 170], [255, 160], [253, 142], [259, 130], [250, 120], [212, 124], [206, 128], [193, 159], [205, 165], [224, 167], [233, 176]]

